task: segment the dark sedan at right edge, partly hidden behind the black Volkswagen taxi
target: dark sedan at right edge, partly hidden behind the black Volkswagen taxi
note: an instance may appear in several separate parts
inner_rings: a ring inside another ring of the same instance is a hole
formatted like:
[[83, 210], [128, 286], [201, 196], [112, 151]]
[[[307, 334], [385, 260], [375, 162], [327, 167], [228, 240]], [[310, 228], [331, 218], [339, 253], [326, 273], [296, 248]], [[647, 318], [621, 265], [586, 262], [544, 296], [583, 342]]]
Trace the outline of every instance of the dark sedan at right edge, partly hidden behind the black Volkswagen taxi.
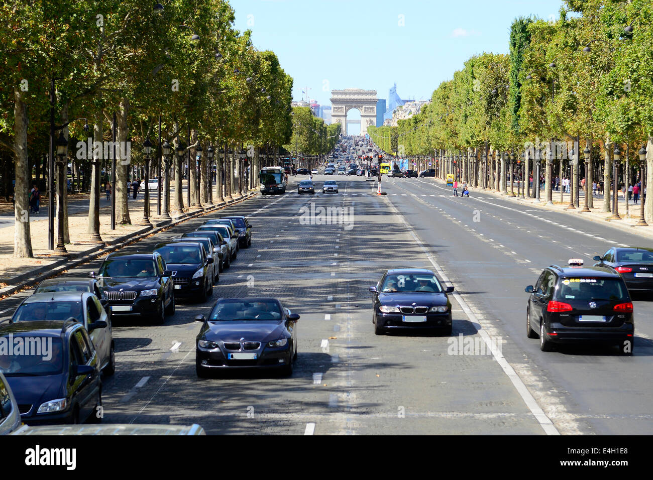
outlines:
[[630, 293], [653, 291], [653, 248], [613, 247], [594, 257], [594, 266], [610, 266], [619, 272]]

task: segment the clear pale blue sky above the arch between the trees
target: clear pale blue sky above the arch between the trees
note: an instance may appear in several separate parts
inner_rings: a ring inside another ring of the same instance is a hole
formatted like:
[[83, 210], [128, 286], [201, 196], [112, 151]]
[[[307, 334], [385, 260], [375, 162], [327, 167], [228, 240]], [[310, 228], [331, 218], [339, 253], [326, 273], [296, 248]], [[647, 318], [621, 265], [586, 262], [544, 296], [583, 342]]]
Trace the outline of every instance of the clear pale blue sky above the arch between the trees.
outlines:
[[230, 3], [236, 29], [250, 29], [256, 48], [274, 51], [293, 77], [293, 99], [306, 99], [308, 88], [309, 99], [323, 105], [331, 89], [376, 90], [387, 99], [395, 82], [402, 99], [428, 100], [471, 56], [507, 54], [515, 18], [558, 18], [562, 7], [562, 0]]

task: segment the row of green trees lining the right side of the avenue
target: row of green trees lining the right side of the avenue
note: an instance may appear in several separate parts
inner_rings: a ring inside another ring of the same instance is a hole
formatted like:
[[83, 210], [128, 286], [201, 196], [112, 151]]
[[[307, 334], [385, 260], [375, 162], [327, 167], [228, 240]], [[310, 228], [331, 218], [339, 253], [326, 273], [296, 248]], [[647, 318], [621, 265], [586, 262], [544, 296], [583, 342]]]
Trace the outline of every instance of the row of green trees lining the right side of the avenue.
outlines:
[[[577, 197], [589, 149], [586, 180], [605, 184], [602, 210], [610, 212], [615, 148], [619, 163], [631, 167], [622, 170], [641, 174], [637, 153], [644, 146], [646, 184], [653, 182], [653, 4], [565, 0], [558, 20], [518, 18], [509, 54], [471, 57], [438, 86], [420, 114], [397, 127], [368, 131], [391, 154], [441, 159], [463, 153], [468, 181], [490, 182], [497, 189], [505, 189], [507, 178], [503, 154], [520, 159], [526, 153], [526, 172], [541, 161], [549, 197], [556, 159], [573, 176]], [[483, 163], [483, 154], [491, 161]], [[593, 178], [596, 172], [603, 178]], [[651, 196], [645, 208], [650, 221]]]

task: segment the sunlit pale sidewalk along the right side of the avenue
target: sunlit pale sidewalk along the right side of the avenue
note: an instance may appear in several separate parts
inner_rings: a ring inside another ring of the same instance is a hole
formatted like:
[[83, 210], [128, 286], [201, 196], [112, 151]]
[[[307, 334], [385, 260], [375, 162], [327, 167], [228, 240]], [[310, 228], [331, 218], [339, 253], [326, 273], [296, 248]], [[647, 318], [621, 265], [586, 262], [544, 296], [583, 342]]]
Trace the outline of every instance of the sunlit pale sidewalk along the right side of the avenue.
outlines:
[[[446, 182], [444, 180], [441, 180], [439, 178], [435, 178], [435, 180], [439, 184], [446, 185]], [[460, 187], [458, 188], [458, 191], [460, 191]], [[510, 191], [511, 191], [510, 183], [508, 183], [509, 195], [510, 195]], [[640, 234], [642, 236], [645, 236], [646, 238], [653, 238], [653, 225], [648, 225], [647, 227], [635, 226], [637, 224], [637, 221], [639, 220], [640, 203], [638, 202], [637, 204], [633, 205], [633, 200], [630, 200], [628, 202], [629, 216], [627, 216], [626, 202], [625, 199], [622, 197], [621, 192], [618, 192], [618, 211], [620, 217], [622, 218], [621, 220], [611, 220], [610, 219], [610, 217], [612, 216], [611, 212], [609, 213], [601, 212], [601, 208], [603, 207], [603, 195], [594, 195], [594, 208], [590, 208], [589, 213], [588, 212], [581, 213], [581, 210], [585, 204], [584, 192], [582, 190], [579, 192], [580, 206], [575, 208], [574, 210], [566, 210], [567, 207], [569, 206], [569, 197], [571, 197], [571, 194], [563, 193], [562, 202], [561, 202], [559, 190], [553, 191], [553, 205], [548, 205], [548, 206], [546, 204], [547, 200], [545, 197], [544, 189], [541, 189], [540, 191], [540, 199], [542, 201], [539, 203], [535, 199], [529, 199], [529, 198], [522, 199], [520, 197], [509, 197], [508, 195], [505, 195], [502, 192], [489, 190], [489, 189], [485, 190], [483, 189], [483, 187], [474, 187], [474, 188], [470, 187], [470, 197], [473, 197], [474, 195], [493, 195], [495, 197], [503, 197], [507, 200], [512, 200], [513, 202], [520, 205], [525, 205], [534, 208], [541, 208], [542, 210], [555, 210], [556, 212], [564, 212], [569, 216], [581, 215], [584, 219], [602, 222], [604, 225], [609, 224], [612, 227], [621, 229], [622, 231], [628, 231], [629, 233]], [[517, 184], [515, 184], [515, 195], [517, 195]]]

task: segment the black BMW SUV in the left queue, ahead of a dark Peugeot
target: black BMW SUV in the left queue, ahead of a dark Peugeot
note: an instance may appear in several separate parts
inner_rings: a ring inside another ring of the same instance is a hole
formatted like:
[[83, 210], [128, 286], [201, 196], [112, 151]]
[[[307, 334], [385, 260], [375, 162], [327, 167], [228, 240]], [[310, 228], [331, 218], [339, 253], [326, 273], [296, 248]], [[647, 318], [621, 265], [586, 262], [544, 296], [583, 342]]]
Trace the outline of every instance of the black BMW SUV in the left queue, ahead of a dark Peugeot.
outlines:
[[[96, 277], [95, 272], [89, 276]], [[175, 312], [172, 271], [160, 253], [110, 253], [97, 280], [111, 317], [142, 317], [161, 325]]]

